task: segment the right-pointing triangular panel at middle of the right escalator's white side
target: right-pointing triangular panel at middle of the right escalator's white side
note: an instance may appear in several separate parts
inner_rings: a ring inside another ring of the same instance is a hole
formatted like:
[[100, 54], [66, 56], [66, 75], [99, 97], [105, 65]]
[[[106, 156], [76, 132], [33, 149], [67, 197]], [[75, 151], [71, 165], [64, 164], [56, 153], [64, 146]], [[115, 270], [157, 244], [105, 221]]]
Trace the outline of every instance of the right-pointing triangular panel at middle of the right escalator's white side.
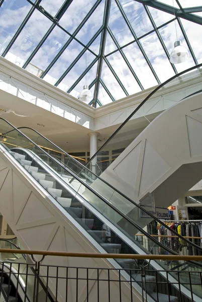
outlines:
[[150, 186], [161, 178], [170, 167], [158, 152], [146, 140], [145, 153], [142, 165], [139, 195], [148, 192]]

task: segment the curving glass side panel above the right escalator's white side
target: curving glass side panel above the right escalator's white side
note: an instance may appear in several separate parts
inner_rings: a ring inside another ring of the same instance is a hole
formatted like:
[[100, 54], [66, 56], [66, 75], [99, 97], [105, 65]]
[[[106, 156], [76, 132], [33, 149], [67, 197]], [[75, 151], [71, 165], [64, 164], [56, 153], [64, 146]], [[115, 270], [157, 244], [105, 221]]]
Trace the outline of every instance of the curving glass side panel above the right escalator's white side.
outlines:
[[[115, 149], [123, 151], [159, 114], [168, 110], [185, 97], [200, 91], [202, 73], [198, 66], [201, 67], [201, 64], [190, 68], [191, 70], [180, 72], [180, 75], [176, 75], [174, 79], [171, 78], [172, 80], [160, 85], [155, 93], [136, 104], [136, 108], [139, 107], [137, 111], [134, 107], [131, 111], [129, 108], [128, 112], [132, 115], [130, 119], [126, 123], [123, 121], [117, 131], [88, 161], [86, 167], [90, 168], [91, 165], [96, 165], [96, 174], [102, 174], [116, 159], [116, 156], [112, 156], [108, 162], [97, 160], [97, 158], [102, 157], [106, 150], [109, 150], [109, 145], [110, 148], [114, 146]], [[189, 83], [189, 87], [186, 89], [184, 88], [185, 83]], [[176, 89], [176, 85], [179, 86], [179, 89]]]

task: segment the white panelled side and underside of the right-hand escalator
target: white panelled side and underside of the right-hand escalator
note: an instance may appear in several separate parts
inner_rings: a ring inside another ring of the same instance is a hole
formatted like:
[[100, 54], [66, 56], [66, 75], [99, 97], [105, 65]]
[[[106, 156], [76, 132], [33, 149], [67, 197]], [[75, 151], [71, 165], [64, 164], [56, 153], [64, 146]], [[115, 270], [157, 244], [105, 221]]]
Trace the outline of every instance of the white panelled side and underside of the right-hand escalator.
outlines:
[[[102, 178], [137, 203], [153, 192], [155, 205], [168, 207], [184, 195], [202, 178], [201, 99], [200, 93], [164, 111], [111, 164]], [[92, 186], [103, 191], [99, 182]], [[106, 197], [114, 204], [121, 203], [111, 191], [106, 191]], [[130, 216], [144, 226], [146, 222], [140, 219], [139, 211], [133, 210], [132, 205], [130, 208]], [[129, 212], [128, 203], [125, 211]]]

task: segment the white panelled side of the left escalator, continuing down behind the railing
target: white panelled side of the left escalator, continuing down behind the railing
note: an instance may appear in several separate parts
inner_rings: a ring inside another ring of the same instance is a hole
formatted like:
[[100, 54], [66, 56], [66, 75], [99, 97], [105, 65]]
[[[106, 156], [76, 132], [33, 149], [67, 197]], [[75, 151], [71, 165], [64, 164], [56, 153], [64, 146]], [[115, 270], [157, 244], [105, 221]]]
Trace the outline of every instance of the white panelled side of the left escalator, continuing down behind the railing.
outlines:
[[[66, 251], [83, 253], [104, 253], [105, 251], [85, 232], [34, 179], [29, 178], [26, 170], [20, 167], [0, 146], [0, 212], [4, 215], [13, 232], [25, 249], [45, 251]], [[41, 256], [36, 256], [41, 259]], [[44, 264], [72, 267], [89, 267], [89, 278], [97, 277], [96, 268], [113, 268], [118, 266], [114, 260], [85, 258], [46, 257]], [[42, 268], [41, 268], [42, 269]], [[43, 273], [43, 271], [42, 271]], [[45, 272], [44, 272], [45, 273]], [[55, 275], [55, 271], [50, 269]], [[61, 277], [66, 277], [66, 270], [59, 270]], [[69, 277], [75, 274], [69, 270]], [[79, 276], [86, 277], [86, 272]], [[108, 271], [100, 269], [100, 279], [108, 279]], [[117, 279], [116, 272], [111, 273]], [[124, 278], [124, 276], [123, 276]], [[124, 280], [124, 279], [123, 279]], [[66, 280], [58, 280], [58, 302], [65, 301]], [[49, 280], [50, 290], [55, 293], [56, 282]], [[96, 281], [89, 282], [89, 300], [95, 300], [97, 294]], [[105, 282], [100, 283], [99, 299], [108, 299]], [[122, 298], [131, 301], [131, 289], [122, 283]], [[76, 283], [68, 281], [68, 300], [76, 299]], [[78, 300], [86, 299], [86, 281], [79, 281]], [[111, 301], [119, 300], [119, 282], [111, 282]], [[142, 301], [141, 294], [133, 290], [133, 300]]]

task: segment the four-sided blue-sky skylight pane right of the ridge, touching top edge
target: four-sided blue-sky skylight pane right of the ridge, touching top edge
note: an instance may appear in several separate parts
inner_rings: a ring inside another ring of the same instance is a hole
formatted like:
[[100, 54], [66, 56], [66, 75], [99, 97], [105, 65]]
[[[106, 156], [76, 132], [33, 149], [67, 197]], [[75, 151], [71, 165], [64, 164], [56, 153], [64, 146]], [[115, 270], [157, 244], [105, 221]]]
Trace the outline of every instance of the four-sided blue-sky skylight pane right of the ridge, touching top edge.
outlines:
[[141, 3], [134, 0], [119, 0], [119, 2], [138, 37], [154, 29]]

